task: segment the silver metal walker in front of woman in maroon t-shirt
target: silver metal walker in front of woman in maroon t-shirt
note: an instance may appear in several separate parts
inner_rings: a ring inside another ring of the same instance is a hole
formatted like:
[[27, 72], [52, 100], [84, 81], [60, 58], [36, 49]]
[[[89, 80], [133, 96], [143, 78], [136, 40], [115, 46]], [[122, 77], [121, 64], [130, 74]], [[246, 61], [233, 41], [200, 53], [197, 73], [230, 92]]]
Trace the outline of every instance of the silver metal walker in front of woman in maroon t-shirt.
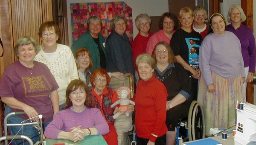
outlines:
[[[4, 118], [4, 136], [0, 137], [0, 142], [5, 140], [5, 145], [8, 145], [8, 140], [25, 139], [29, 143], [29, 145], [34, 145], [32, 139], [30, 139], [28, 136], [25, 136], [25, 135], [8, 135], [8, 129], [7, 129], [8, 126], [21, 126], [21, 127], [23, 127], [25, 125], [33, 125], [38, 130], [39, 139], [40, 139], [40, 141], [36, 142], [35, 145], [46, 145], [46, 143], [44, 142], [44, 136], [43, 136], [42, 115], [38, 115], [39, 121], [36, 121], [36, 122], [26, 123], [26, 121], [29, 120], [29, 119], [27, 119], [27, 120], [24, 120], [23, 122], [18, 123], [18, 124], [8, 124], [7, 123], [7, 119], [10, 116], [21, 115], [21, 114], [25, 114], [25, 112], [23, 112], [23, 111], [12, 112], [12, 113], [9, 113], [9, 114], [6, 115], [6, 117]], [[33, 118], [35, 118], [35, 117], [33, 117]], [[32, 119], [32, 118], [30, 118], [30, 119]]]

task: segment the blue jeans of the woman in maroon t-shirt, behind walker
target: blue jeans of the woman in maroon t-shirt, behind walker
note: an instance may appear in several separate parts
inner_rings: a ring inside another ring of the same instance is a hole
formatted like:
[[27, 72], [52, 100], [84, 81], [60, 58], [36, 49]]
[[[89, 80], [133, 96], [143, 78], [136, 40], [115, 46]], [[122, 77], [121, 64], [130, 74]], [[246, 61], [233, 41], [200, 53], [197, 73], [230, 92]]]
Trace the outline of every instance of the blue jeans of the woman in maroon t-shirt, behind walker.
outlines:
[[[13, 111], [11, 110], [11, 108], [8, 105], [6, 105], [4, 115], [6, 116], [7, 114], [12, 112]], [[20, 123], [23, 120], [24, 119], [20, 118], [19, 116], [13, 115], [8, 118], [7, 123], [8, 124]], [[43, 131], [45, 130], [45, 128], [50, 122], [52, 122], [52, 119], [43, 124]], [[20, 128], [21, 126], [9, 126], [8, 131], [11, 135], [15, 135], [20, 130], [19, 133], [17, 134], [20, 134], [20, 135], [23, 134], [25, 136], [28, 136], [30, 139], [32, 139], [34, 143], [39, 141], [38, 130], [34, 128], [32, 125], [25, 125], [23, 126], [22, 129]], [[28, 145], [28, 142], [25, 142], [25, 141], [26, 140], [24, 139], [24, 145]], [[16, 139], [12, 141], [12, 145], [22, 144], [22, 142], [23, 142], [22, 139]]]

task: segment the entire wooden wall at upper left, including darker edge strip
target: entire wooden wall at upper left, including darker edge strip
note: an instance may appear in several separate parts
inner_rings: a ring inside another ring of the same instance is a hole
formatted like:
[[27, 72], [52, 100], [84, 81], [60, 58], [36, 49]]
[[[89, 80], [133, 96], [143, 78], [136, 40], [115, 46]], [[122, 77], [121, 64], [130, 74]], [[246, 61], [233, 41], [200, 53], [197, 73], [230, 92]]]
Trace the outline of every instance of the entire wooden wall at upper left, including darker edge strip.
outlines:
[[0, 76], [15, 61], [13, 49], [21, 36], [30, 36], [42, 44], [38, 28], [48, 20], [52, 20], [52, 0], [0, 0], [0, 37], [4, 45]]

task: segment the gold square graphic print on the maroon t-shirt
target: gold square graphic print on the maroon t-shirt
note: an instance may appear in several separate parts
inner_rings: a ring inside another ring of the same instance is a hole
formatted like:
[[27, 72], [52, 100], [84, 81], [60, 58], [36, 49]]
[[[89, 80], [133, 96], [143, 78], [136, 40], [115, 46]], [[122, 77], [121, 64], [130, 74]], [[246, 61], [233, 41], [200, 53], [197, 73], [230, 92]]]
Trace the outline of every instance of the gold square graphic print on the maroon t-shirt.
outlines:
[[44, 75], [22, 77], [25, 97], [48, 96], [50, 85]]

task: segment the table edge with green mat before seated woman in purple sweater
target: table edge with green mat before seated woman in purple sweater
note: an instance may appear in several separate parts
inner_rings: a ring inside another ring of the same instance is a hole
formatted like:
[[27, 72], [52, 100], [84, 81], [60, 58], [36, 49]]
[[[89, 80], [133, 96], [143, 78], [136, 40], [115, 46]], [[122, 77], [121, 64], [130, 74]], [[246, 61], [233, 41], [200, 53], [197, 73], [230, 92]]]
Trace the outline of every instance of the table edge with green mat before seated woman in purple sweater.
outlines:
[[53, 145], [54, 143], [66, 143], [69, 145], [108, 145], [102, 135], [85, 136], [84, 140], [78, 142], [66, 139], [46, 139], [46, 145]]

